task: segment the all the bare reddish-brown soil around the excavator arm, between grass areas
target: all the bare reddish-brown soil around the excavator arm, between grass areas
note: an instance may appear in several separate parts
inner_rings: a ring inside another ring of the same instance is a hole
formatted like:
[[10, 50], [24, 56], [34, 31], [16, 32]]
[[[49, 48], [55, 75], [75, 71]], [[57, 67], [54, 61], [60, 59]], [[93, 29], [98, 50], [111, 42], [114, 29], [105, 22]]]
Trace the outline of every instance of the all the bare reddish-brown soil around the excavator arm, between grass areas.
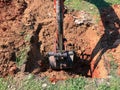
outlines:
[[[53, 1], [0, 1], [0, 76], [30, 72], [48, 76], [51, 81], [81, 75], [107, 78], [112, 60], [109, 55], [118, 63], [120, 75], [120, 5], [102, 9], [100, 18], [96, 23], [96, 18], [85, 11], [64, 15], [66, 47], [76, 54], [71, 70], [55, 71], [46, 58], [49, 51], [55, 50]], [[23, 60], [22, 64], [18, 65], [17, 60]]]

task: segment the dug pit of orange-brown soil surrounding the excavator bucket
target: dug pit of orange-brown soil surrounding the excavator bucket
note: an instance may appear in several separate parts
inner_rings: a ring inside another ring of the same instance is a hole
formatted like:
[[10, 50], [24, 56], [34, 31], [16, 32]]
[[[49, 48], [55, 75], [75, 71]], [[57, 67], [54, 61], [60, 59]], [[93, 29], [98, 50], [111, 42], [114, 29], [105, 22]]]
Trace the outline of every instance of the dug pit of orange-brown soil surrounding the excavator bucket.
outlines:
[[[41, 77], [47, 76], [51, 81], [52, 79], [65, 80], [69, 77], [79, 76], [92, 78], [106, 78], [108, 76], [109, 70], [106, 69], [108, 61], [105, 61], [103, 58], [100, 60], [99, 64], [97, 64], [97, 68], [93, 68], [99, 54], [94, 57], [93, 60], [91, 60], [91, 54], [100, 37], [94, 30], [92, 19], [86, 20], [81, 24], [75, 23], [74, 16], [79, 16], [79, 13], [68, 13], [65, 14], [64, 17], [64, 37], [66, 39], [66, 47], [68, 51], [75, 51], [73, 68], [68, 70], [52, 70], [50, 68], [46, 54], [55, 49], [54, 42], [57, 24], [56, 19], [54, 18], [51, 19], [52, 21], [48, 20], [45, 23], [40, 23], [34, 36], [32, 36], [31, 50], [28, 53], [29, 56], [26, 62], [26, 72], [38, 74]], [[93, 36], [96, 38], [90, 38]]]

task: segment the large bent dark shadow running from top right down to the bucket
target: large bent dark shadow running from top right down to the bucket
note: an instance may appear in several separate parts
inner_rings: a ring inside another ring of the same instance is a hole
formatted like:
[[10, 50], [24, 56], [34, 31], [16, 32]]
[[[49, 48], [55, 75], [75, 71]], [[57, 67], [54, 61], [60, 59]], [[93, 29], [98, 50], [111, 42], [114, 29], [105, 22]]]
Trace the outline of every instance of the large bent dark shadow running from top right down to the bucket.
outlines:
[[[98, 66], [102, 55], [108, 49], [116, 48], [120, 44], [120, 37], [119, 37], [120, 19], [115, 13], [110, 3], [107, 3], [105, 0], [85, 0], [85, 1], [94, 4], [97, 7], [104, 27], [103, 30], [104, 34], [97, 42], [91, 55], [87, 55], [83, 51], [80, 56], [77, 55], [75, 56], [73, 69], [68, 72], [72, 74], [81, 74], [82, 76], [86, 76], [86, 77], [92, 77], [92, 74], [96, 69], [96, 67]], [[117, 41], [118, 39], [119, 41]], [[97, 58], [95, 58], [96, 56]], [[95, 58], [95, 62], [93, 67], [91, 68], [91, 63], [94, 58]]]

